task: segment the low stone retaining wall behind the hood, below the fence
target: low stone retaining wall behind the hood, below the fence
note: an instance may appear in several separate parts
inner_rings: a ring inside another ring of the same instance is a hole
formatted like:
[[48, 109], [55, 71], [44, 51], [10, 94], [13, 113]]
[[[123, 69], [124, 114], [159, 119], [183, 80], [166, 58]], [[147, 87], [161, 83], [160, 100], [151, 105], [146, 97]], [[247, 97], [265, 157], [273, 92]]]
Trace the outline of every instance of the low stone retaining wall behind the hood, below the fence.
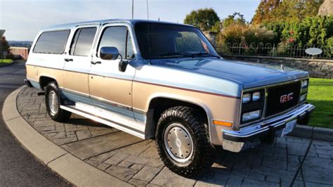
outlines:
[[283, 64], [286, 67], [308, 71], [310, 77], [333, 79], [333, 60], [272, 56], [223, 56], [223, 58], [274, 65]]

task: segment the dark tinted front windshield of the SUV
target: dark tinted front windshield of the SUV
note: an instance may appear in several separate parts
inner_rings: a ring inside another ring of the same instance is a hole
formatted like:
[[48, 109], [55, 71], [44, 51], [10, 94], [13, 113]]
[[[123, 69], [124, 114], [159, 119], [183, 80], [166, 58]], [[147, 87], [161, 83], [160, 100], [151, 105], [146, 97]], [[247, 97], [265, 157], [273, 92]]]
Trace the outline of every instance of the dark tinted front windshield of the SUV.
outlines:
[[218, 56], [204, 34], [195, 27], [138, 22], [134, 29], [141, 56], [146, 59]]

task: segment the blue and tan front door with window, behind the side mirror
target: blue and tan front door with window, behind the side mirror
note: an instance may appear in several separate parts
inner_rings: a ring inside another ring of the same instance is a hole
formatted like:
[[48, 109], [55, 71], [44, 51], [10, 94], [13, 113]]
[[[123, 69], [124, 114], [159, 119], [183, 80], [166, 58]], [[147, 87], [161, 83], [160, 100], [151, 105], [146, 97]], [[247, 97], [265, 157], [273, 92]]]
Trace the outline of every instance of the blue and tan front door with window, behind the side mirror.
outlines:
[[[136, 69], [133, 61], [133, 41], [129, 25], [108, 24], [103, 26], [98, 37], [96, 53], [91, 61], [89, 73], [89, 94], [99, 114], [105, 119], [133, 120], [132, 80]], [[120, 56], [116, 60], [100, 58], [100, 48], [116, 47], [123, 60], [129, 60], [124, 72], [119, 71]]]

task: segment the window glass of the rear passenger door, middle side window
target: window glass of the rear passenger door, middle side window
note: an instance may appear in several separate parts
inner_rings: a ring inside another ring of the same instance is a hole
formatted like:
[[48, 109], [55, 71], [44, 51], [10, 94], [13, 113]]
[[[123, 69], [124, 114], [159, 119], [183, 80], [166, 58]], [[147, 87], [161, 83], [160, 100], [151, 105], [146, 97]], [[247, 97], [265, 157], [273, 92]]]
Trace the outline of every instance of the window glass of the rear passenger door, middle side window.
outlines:
[[70, 47], [70, 55], [89, 56], [96, 30], [96, 27], [81, 28], [77, 30]]

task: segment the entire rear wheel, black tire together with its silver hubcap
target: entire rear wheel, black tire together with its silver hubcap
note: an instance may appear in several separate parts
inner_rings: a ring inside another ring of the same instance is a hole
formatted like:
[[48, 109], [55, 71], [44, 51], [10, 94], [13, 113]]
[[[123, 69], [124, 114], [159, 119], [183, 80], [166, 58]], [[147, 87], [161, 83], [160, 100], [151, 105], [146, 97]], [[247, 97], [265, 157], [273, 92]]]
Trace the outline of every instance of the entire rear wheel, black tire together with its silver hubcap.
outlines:
[[52, 120], [56, 122], [65, 122], [70, 119], [71, 112], [60, 108], [60, 94], [56, 82], [50, 82], [45, 89], [46, 111]]

